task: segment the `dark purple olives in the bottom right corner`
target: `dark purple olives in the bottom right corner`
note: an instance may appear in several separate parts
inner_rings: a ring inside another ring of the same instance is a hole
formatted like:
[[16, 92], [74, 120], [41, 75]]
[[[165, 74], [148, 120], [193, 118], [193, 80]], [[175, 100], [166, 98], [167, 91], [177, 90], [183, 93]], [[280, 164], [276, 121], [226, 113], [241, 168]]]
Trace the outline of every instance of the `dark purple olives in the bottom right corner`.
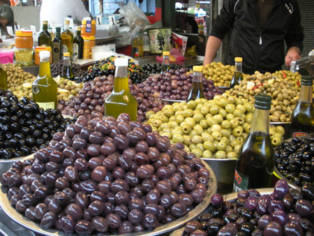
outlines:
[[292, 236], [314, 235], [314, 186], [289, 191], [283, 179], [274, 192], [262, 195], [255, 189], [237, 193], [234, 202], [211, 196], [206, 214], [190, 221], [184, 235], [190, 236]]

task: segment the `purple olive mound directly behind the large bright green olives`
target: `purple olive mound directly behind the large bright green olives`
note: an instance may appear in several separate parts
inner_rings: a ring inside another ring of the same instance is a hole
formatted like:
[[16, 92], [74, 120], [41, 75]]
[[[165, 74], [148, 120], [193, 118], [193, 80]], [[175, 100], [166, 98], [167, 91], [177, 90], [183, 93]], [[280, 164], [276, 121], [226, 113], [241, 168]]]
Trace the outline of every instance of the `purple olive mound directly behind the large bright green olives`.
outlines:
[[[186, 68], [170, 69], [161, 75], [151, 76], [142, 84], [137, 84], [144, 93], [158, 94], [161, 99], [185, 101], [192, 88], [193, 74], [187, 74]], [[215, 87], [213, 80], [202, 78], [204, 97], [212, 99], [223, 94], [223, 89]]]

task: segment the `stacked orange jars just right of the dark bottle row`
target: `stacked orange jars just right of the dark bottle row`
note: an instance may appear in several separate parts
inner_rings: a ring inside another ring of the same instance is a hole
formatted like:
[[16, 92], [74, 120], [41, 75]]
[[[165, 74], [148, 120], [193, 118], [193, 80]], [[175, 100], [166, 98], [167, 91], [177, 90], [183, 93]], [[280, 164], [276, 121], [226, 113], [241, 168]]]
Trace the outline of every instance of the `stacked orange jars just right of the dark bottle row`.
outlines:
[[91, 49], [95, 46], [96, 20], [82, 20], [81, 34], [84, 39], [83, 59], [90, 59]]

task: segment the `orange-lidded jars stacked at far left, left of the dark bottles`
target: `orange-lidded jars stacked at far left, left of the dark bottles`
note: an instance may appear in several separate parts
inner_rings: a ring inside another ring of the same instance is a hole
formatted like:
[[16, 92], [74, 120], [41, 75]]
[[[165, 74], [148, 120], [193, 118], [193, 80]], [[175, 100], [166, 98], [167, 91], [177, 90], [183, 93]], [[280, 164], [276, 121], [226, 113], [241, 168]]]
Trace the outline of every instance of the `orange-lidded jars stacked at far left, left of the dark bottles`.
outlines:
[[14, 47], [15, 63], [20, 66], [33, 65], [33, 32], [16, 31]]

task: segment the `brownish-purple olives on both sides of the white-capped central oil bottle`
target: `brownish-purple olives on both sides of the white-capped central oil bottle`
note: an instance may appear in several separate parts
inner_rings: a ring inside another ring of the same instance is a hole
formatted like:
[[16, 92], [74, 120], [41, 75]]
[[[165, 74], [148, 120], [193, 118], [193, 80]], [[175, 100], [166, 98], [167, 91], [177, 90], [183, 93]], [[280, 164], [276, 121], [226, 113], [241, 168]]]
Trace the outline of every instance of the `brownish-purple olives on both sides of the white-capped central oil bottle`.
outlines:
[[[107, 96], [111, 94], [114, 83], [114, 76], [97, 77], [90, 82], [84, 82], [84, 87], [79, 91], [77, 96], [70, 98], [70, 101], [60, 100], [59, 110], [63, 115], [79, 117], [88, 115], [91, 118], [101, 118], [105, 114], [104, 103]], [[137, 100], [137, 120], [142, 122], [146, 119], [145, 114], [149, 110], [158, 112], [163, 108], [163, 101], [155, 98], [153, 94], [142, 93], [140, 87], [132, 84], [129, 80], [130, 93]]]

